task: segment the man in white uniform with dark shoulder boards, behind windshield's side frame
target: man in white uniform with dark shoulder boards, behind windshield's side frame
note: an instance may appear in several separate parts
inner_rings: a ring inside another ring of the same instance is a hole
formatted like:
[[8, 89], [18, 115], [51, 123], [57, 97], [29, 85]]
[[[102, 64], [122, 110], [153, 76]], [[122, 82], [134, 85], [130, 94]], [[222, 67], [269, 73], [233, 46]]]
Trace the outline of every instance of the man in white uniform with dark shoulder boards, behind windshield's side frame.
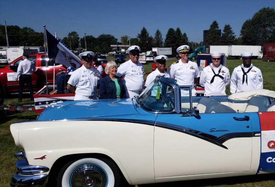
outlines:
[[[196, 96], [194, 83], [197, 83], [199, 77], [199, 67], [197, 63], [188, 60], [190, 47], [181, 45], [177, 48], [179, 61], [174, 62], [169, 69], [170, 78], [175, 78], [178, 85], [192, 85], [192, 96]], [[189, 91], [181, 90], [181, 96], [189, 96]]]

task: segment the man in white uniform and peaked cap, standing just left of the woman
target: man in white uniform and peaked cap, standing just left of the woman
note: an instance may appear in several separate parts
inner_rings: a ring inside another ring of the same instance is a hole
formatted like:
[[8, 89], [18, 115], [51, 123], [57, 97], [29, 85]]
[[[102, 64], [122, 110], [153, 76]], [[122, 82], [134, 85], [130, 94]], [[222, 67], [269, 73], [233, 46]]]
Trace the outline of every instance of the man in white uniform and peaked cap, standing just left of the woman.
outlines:
[[68, 80], [67, 89], [76, 93], [74, 100], [96, 99], [96, 88], [101, 78], [100, 72], [92, 67], [94, 53], [86, 51], [78, 55], [82, 67], [76, 69]]

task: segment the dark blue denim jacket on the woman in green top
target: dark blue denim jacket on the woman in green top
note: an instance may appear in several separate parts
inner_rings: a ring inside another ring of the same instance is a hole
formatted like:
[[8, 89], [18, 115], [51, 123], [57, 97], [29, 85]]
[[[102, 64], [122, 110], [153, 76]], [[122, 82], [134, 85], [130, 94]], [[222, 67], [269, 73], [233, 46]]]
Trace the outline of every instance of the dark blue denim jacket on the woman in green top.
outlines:
[[[120, 98], [125, 98], [125, 88], [123, 80], [116, 76], [118, 84], [120, 86]], [[99, 87], [99, 98], [100, 99], [117, 99], [116, 95], [116, 83], [110, 78], [109, 75], [100, 80]]]

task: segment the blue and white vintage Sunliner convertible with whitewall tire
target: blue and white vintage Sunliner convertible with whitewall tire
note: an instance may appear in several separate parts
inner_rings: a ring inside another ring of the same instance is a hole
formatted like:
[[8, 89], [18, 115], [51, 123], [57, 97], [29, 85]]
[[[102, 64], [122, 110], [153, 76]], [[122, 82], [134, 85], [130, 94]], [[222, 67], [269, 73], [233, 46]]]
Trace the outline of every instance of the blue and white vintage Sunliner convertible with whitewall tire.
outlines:
[[192, 96], [157, 76], [139, 97], [68, 101], [10, 126], [11, 186], [120, 186], [272, 173], [275, 91]]

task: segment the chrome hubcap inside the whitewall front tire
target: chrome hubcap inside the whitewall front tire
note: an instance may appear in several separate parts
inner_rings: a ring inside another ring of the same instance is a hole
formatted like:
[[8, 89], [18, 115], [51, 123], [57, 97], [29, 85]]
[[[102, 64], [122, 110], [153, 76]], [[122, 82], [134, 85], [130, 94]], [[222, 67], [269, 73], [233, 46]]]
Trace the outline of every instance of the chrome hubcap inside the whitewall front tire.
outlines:
[[70, 186], [101, 187], [106, 186], [107, 178], [104, 170], [95, 164], [78, 166], [70, 177]]

